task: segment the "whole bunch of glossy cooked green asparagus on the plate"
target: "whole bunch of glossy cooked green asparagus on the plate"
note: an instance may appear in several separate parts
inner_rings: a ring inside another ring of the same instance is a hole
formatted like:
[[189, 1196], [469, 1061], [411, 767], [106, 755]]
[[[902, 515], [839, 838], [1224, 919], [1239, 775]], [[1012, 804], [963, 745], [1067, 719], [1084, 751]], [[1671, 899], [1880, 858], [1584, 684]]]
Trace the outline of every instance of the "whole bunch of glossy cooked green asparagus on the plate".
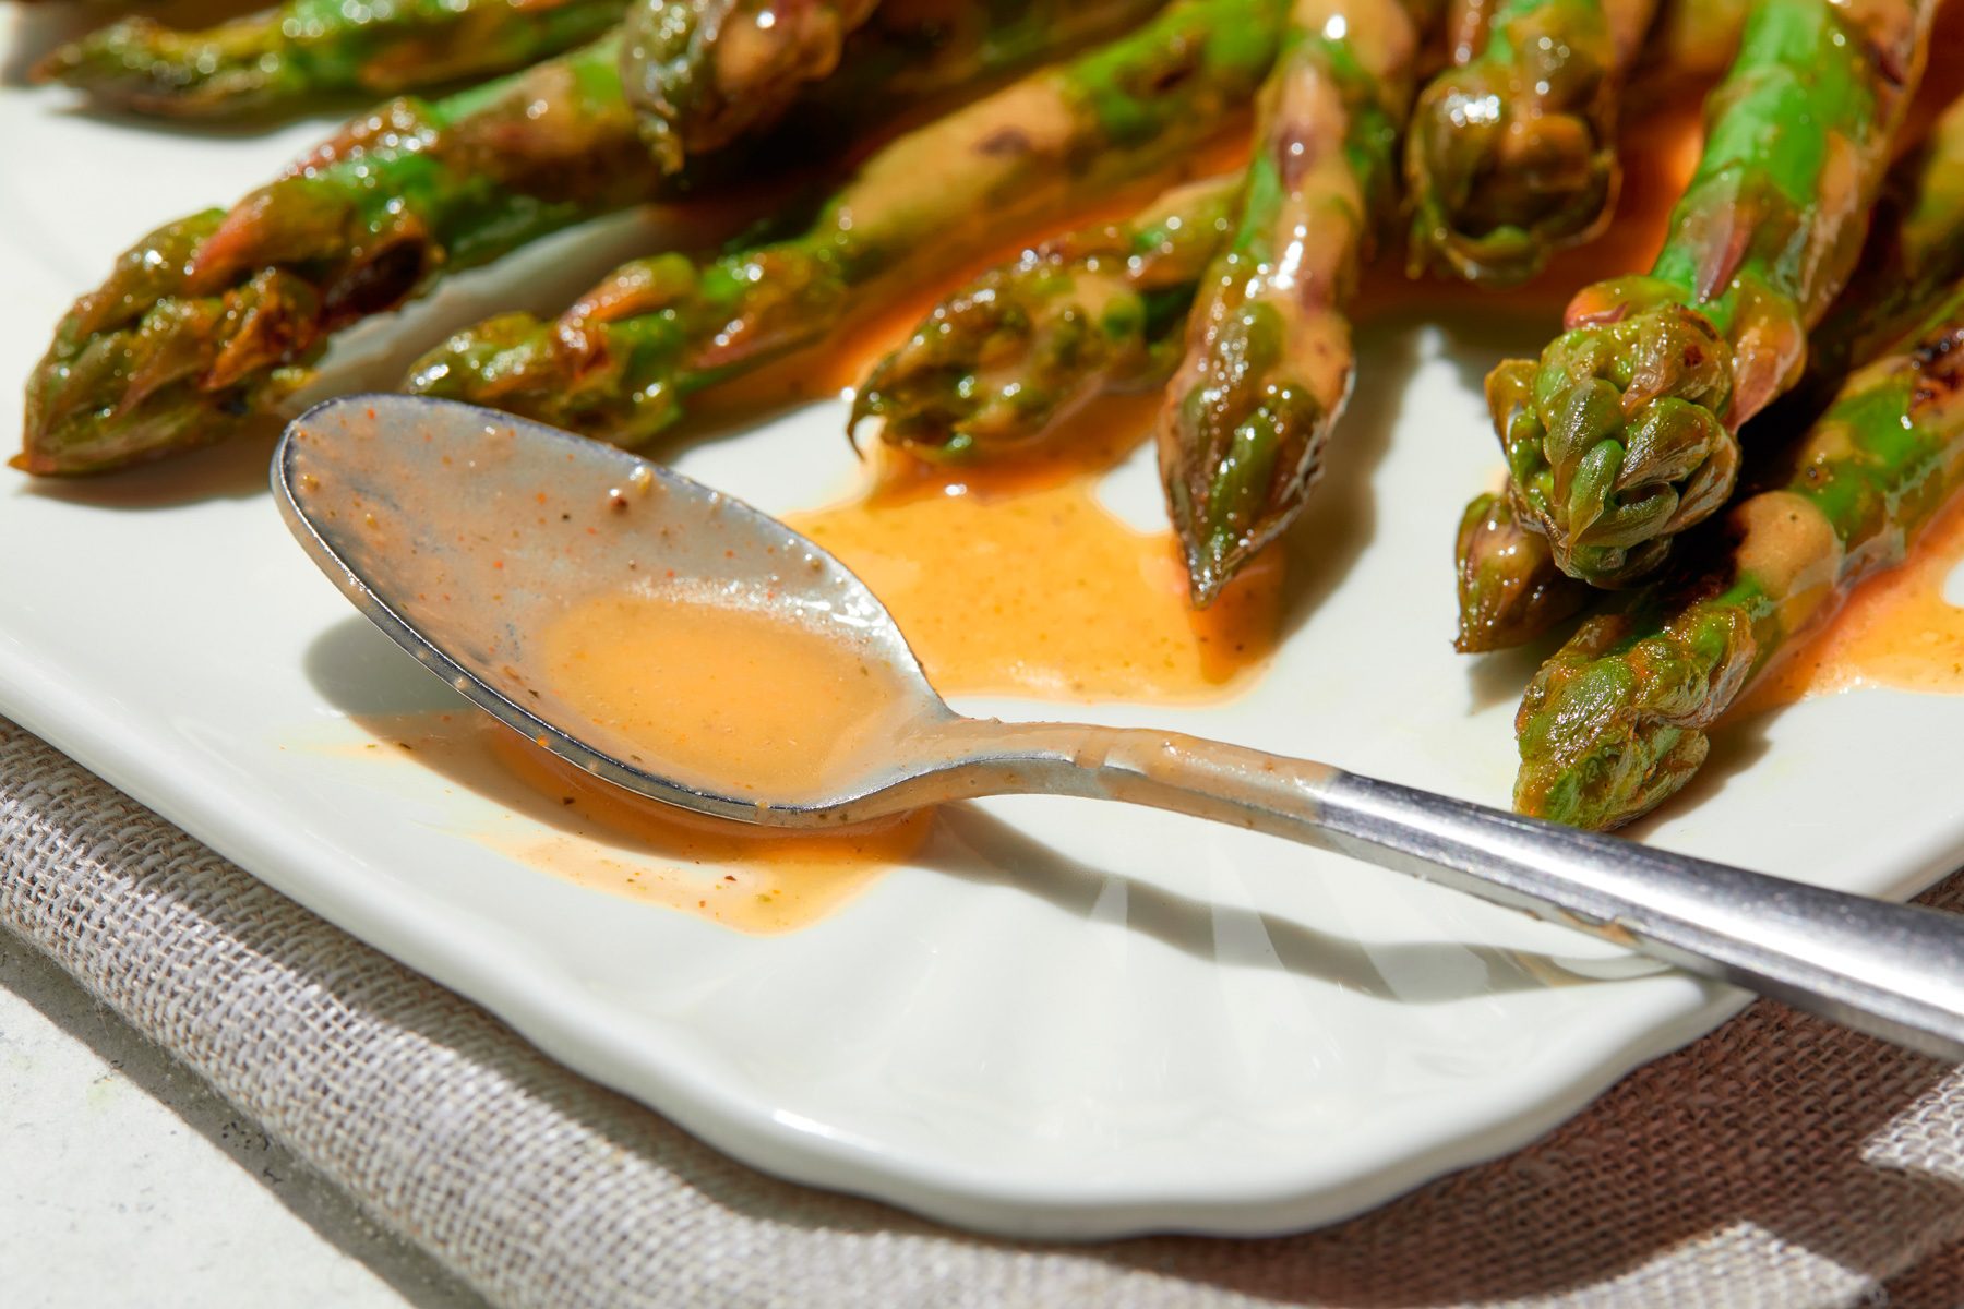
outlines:
[[[1585, 287], [1540, 361], [1489, 379], [1508, 489], [1459, 524], [1461, 650], [1638, 587], [1520, 712], [1516, 803], [1610, 826], [1683, 785], [1740, 689], [1964, 489], [1964, 106], [1883, 179], [1935, 0], [1658, 8], [285, 0], [210, 31], [126, 20], [43, 77], [177, 118], [505, 77], [393, 100], [230, 210], [143, 237], [57, 328], [18, 463], [100, 471], [218, 440], [306, 383], [332, 334], [450, 269], [715, 194], [786, 159], [772, 141], [817, 153], [821, 126], [872, 141], [900, 106], [947, 96], [966, 104], [864, 155], [823, 202], [725, 251], [634, 261], [552, 322], [491, 318], [407, 385], [644, 444], [701, 387], [1161, 179], [1133, 214], [943, 298], [874, 367], [850, 432], [1013, 457], [1100, 393], [1165, 387], [1167, 506], [1208, 604], [1302, 512], [1385, 232], [1410, 220], [1414, 273], [1530, 277], [1607, 222], [1616, 110], [1646, 61], [1730, 61], [1650, 273]], [[1057, 63], [996, 86], [1039, 59]], [[1196, 147], [1249, 110], [1249, 161], [1192, 181]], [[1770, 447], [1819, 422], [1715, 518], [1762, 410]]]

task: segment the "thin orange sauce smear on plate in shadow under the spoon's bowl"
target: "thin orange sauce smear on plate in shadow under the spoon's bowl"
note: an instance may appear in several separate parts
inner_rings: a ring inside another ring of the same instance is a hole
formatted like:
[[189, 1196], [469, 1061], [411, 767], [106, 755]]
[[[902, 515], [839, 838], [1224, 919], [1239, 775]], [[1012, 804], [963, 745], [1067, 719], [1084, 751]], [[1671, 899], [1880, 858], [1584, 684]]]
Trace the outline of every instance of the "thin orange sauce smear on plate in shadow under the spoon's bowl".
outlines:
[[911, 860], [933, 812], [788, 834], [701, 818], [597, 781], [477, 712], [357, 718], [375, 750], [410, 752], [507, 811], [485, 846], [568, 881], [750, 934], [831, 915]]

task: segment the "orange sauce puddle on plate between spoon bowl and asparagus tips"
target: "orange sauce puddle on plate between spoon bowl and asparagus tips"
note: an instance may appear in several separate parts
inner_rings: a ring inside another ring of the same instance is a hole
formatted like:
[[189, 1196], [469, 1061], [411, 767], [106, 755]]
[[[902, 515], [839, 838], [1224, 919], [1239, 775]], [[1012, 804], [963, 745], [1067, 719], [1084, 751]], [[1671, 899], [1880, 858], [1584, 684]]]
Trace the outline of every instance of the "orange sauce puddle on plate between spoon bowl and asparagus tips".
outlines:
[[790, 522], [872, 587], [943, 693], [1218, 699], [1275, 652], [1282, 561], [1269, 551], [1196, 612], [1173, 534], [1098, 504], [1157, 404], [1090, 404], [1009, 467], [888, 453], [864, 497]]

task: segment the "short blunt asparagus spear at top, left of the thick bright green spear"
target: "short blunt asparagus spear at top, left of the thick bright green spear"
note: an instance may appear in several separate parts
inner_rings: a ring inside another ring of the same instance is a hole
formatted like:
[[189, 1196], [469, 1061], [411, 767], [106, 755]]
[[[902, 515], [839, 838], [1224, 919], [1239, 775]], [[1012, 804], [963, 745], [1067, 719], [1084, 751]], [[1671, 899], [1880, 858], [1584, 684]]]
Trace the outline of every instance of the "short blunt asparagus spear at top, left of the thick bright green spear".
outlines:
[[1518, 283], [1587, 241], [1616, 198], [1616, 100], [1656, 0], [1500, 0], [1487, 43], [1436, 77], [1404, 147], [1412, 273]]

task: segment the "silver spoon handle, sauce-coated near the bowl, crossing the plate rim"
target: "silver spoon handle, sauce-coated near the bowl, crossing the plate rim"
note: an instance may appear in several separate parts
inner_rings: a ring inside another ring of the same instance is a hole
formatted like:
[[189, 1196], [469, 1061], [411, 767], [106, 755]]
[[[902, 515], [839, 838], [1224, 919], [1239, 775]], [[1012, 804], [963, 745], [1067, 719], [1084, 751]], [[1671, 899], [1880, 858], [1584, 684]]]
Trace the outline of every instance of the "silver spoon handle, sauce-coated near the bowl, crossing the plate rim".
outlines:
[[1964, 920], [1169, 732], [990, 728], [1013, 791], [1171, 809], [1336, 850], [1842, 1026], [1964, 1062]]

